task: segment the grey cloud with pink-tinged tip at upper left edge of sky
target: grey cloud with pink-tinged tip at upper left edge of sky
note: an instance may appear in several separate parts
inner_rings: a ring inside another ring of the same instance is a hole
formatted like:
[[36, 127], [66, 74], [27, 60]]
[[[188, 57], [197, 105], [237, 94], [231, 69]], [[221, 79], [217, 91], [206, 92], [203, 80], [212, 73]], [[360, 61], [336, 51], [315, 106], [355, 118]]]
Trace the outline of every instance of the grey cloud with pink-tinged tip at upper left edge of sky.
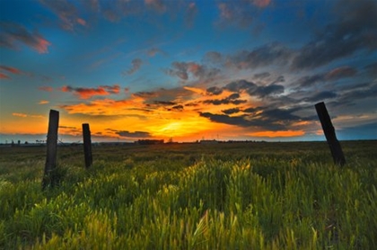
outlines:
[[38, 31], [28, 31], [14, 22], [0, 22], [0, 46], [18, 49], [19, 43], [37, 50], [40, 54], [48, 53], [48, 46], [51, 45]]

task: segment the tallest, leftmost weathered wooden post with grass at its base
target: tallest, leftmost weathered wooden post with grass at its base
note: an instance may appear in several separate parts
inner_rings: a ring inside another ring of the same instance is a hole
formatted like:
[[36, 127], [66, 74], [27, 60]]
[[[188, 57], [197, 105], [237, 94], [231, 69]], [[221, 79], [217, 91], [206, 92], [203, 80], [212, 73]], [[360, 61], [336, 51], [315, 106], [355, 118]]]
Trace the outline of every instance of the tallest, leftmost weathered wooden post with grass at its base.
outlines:
[[47, 156], [45, 173], [43, 174], [42, 189], [54, 186], [57, 180], [54, 179], [53, 171], [57, 166], [57, 129], [59, 127], [59, 112], [50, 110], [48, 120]]

